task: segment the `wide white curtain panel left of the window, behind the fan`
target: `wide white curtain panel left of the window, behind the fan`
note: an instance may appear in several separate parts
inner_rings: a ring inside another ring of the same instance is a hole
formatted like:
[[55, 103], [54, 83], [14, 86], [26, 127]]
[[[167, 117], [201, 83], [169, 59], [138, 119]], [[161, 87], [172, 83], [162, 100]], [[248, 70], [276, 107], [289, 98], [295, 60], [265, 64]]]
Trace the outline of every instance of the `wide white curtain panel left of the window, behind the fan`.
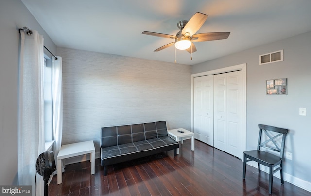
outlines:
[[35, 162], [45, 151], [43, 99], [43, 37], [20, 32], [18, 67], [18, 183], [32, 185], [32, 193], [44, 193], [44, 182], [37, 175]]

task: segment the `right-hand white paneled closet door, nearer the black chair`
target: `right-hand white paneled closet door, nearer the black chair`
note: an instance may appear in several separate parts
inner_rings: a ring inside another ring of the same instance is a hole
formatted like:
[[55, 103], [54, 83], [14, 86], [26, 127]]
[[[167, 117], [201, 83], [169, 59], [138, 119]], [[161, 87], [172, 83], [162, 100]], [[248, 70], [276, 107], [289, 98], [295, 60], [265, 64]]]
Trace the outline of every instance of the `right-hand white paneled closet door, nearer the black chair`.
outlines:
[[214, 147], [241, 157], [242, 71], [214, 75]]

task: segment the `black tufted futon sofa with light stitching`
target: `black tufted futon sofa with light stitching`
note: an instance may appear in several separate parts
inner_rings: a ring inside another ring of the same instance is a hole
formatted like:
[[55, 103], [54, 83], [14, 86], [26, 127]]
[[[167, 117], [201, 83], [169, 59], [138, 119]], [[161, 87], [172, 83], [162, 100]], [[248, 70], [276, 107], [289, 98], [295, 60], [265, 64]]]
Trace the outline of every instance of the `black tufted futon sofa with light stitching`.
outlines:
[[179, 142], [168, 136], [166, 121], [102, 127], [101, 165], [107, 166], [179, 148]]

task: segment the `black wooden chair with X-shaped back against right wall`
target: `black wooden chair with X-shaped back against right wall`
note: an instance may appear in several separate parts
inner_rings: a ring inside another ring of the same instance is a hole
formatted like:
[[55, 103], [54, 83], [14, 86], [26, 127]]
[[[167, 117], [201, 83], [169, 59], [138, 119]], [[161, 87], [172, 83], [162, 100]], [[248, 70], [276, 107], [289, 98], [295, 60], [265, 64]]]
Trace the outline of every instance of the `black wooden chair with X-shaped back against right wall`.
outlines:
[[[245, 179], [246, 162], [256, 161], [258, 163], [258, 172], [260, 173], [260, 164], [269, 167], [269, 194], [272, 193], [273, 174], [280, 170], [281, 183], [283, 180], [283, 156], [285, 148], [285, 137], [288, 129], [259, 124], [259, 137], [257, 150], [244, 151], [243, 163], [243, 179]], [[264, 134], [263, 134], [264, 133]], [[266, 135], [266, 137], [264, 136]], [[265, 140], [267, 138], [267, 140]], [[276, 151], [277, 153], [270, 153], [262, 151], [261, 148]], [[278, 155], [276, 155], [278, 154]], [[275, 170], [274, 167], [278, 166]]]

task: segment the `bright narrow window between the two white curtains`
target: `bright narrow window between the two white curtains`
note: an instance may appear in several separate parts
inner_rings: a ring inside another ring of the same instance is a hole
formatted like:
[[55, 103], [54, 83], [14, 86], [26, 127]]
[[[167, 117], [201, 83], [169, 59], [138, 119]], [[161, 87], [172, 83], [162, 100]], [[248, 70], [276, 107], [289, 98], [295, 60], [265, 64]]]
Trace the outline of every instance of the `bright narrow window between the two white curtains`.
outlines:
[[44, 135], [45, 142], [53, 140], [52, 60], [44, 55]]

